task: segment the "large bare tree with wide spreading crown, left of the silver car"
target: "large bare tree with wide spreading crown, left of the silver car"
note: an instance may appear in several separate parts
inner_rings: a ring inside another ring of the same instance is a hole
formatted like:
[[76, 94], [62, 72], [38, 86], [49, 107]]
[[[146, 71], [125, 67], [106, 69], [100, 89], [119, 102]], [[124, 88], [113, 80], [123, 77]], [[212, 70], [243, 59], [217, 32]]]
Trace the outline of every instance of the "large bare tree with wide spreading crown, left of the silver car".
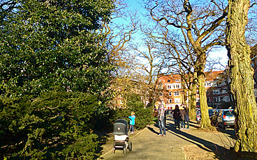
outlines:
[[185, 33], [186, 41], [193, 48], [196, 55], [194, 72], [197, 73], [198, 89], [200, 94], [200, 107], [203, 122], [201, 127], [210, 127], [210, 119], [207, 108], [207, 98], [205, 92], [205, 63], [207, 52], [213, 46], [222, 45], [224, 40], [224, 30], [228, 7], [226, 3], [206, 3], [200, 1], [150, 1], [146, 8], [154, 21], [159, 26], [169, 28], [170, 32], [180, 31]]

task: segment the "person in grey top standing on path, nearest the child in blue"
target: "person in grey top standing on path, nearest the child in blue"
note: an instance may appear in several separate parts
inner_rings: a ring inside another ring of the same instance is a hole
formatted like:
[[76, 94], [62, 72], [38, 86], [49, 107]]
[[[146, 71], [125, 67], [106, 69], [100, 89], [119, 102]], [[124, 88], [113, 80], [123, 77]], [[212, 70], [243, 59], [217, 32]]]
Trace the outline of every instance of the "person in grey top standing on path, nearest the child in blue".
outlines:
[[160, 133], [158, 136], [166, 137], [166, 127], [164, 124], [164, 120], [165, 120], [165, 108], [164, 108], [164, 105], [161, 103], [159, 104], [159, 108], [158, 108], [158, 125], [160, 129]]

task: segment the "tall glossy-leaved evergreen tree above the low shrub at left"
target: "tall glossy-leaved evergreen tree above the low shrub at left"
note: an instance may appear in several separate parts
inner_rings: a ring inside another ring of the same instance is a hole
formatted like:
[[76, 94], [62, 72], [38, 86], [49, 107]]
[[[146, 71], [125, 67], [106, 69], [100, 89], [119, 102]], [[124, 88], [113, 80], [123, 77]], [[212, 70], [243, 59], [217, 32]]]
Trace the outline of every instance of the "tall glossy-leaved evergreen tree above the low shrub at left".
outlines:
[[112, 0], [21, 0], [0, 25], [0, 90], [8, 96], [101, 92], [112, 69], [105, 35]]

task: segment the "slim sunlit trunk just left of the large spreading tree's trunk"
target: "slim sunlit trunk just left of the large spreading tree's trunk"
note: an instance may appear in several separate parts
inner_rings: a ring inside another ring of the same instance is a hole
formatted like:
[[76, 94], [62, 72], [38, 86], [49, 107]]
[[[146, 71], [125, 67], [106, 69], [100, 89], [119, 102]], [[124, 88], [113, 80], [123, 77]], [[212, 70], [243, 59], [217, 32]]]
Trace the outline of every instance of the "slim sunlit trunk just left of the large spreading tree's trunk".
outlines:
[[193, 72], [193, 83], [191, 88], [191, 102], [189, 116], [191, 119], [196, 118], [196, 93], [197, 93], [197, 72]]

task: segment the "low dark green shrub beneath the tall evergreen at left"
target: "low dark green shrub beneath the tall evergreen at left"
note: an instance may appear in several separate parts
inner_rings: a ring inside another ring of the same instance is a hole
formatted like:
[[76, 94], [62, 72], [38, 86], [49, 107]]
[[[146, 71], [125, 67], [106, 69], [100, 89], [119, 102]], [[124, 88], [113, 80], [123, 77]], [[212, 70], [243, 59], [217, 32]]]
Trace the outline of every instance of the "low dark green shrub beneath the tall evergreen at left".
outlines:
[[[93, 159], [97, 136], [91, 120], [101, 103], [95, 95], [50, 91], [15, 102], [1, 99], [1, 147], [5, 157]], [[15, 144], [15, 145], [14, 145]], [[10, 154], [11, 153], [11, 154]]]

